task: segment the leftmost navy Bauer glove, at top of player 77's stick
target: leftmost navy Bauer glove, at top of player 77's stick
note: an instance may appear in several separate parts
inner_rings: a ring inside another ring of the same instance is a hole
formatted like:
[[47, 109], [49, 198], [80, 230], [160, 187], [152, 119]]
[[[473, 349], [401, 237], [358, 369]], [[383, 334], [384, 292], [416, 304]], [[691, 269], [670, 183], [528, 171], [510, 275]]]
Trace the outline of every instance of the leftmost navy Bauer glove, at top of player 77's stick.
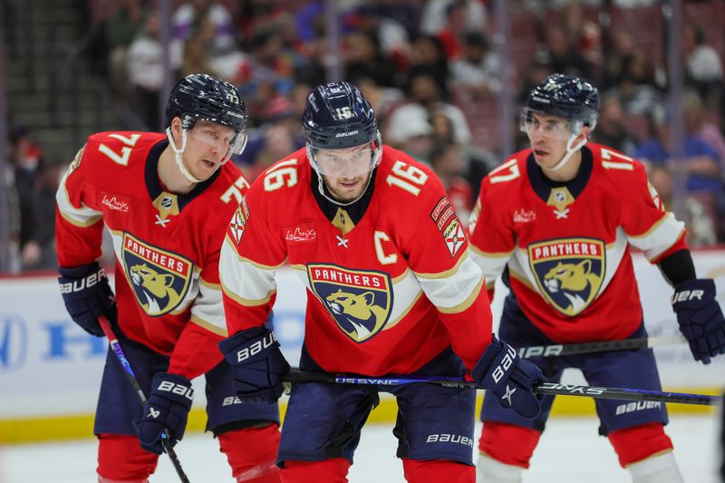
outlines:
[[93, 262], [75, 268], [59, 266], [58, 272], [61, 273], [58, 283], [68, 314], [85, 332], [102, 337], [99, 316], [105, 315], [111, 324], [116, 324], [116, 297], [108, 285], [105, 270], [98, 262]]

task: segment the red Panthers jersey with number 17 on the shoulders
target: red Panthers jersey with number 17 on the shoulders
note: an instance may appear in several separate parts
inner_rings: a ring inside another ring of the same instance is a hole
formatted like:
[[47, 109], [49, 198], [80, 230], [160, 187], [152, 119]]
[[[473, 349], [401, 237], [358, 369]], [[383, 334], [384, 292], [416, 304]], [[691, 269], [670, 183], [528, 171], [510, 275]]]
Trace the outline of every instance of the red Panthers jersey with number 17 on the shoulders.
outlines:
[[652, 263], [686, 248], [643, 165], [593, 143], [565, 185], [531, 150], [514, 154], [481, 182], [469, 232], [488, 288], [508, 266], [521, 310], [556, 343], [631, 335], [643, 314], [629, 246]]

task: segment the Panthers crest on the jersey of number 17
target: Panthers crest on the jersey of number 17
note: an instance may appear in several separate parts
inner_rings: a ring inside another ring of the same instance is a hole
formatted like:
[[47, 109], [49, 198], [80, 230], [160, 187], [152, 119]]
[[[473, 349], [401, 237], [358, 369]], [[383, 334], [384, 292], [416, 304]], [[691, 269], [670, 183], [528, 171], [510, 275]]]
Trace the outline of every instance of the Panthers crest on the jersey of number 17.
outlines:
[[594, 238], [560, 238], [527, 247], [528, 263], [539, 293], [569, 317], [594, 301], [604, 280], [604, 242]]

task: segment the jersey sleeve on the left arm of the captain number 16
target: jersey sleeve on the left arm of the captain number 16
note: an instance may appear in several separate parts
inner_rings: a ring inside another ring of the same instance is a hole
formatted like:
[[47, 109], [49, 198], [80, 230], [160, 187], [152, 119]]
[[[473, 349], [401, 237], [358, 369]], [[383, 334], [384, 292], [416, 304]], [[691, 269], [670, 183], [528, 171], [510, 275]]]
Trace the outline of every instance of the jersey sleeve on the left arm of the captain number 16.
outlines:
[[263, 194], [254, 183], [231, 218], [221, 246], [219, 277], [229, 335], [266, 322], [275, 304], [275, 273], [287, 257], [269, 226]]

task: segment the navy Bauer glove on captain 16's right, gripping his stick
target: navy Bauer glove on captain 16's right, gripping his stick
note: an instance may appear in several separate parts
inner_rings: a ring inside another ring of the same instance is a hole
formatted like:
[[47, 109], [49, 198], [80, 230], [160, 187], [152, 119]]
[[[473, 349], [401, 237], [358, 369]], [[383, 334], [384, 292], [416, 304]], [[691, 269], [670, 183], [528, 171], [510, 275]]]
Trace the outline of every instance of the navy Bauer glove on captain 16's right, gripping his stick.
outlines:
[[495, 335], [470, 374], [484, 389], [495, 394], [505, 408], [513, 408], [531, 419], [541, 412], [541, 403], [531, 388], [546, 382], [544, 374], [534, 363], [521, 359], [513, 347], [499, 342]]

